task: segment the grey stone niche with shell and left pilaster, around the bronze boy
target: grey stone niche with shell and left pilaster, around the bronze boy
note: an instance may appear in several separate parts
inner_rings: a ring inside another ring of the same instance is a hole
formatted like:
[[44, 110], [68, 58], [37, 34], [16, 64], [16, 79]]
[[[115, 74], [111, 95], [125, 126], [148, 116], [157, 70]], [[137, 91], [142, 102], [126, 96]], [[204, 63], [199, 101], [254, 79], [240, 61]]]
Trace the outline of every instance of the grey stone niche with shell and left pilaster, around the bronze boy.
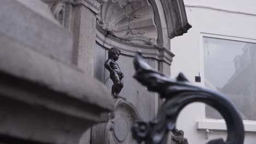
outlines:
[[[161, 101], [132, 78], [133, 56], [140, 50], [147, 63], [170, 75], [174, 54], [170, 39], [191, 27], [183, 0], [43, 0], [62, 27], [74, 34], [74, 52], [82, 70], [91, 71], [111, 91], [112, 81], [104, 68], [108, 50], [121, 50], [117, 63], [124, 73], [124, 88], [115, 100], [108, 121], [91, 127], [80, 143], [136, 143], [131, 125], [153, 119]], [[90, 63], [90, 65], [88, 65]], [[101, 101], [104, 103], [104, 101]]]

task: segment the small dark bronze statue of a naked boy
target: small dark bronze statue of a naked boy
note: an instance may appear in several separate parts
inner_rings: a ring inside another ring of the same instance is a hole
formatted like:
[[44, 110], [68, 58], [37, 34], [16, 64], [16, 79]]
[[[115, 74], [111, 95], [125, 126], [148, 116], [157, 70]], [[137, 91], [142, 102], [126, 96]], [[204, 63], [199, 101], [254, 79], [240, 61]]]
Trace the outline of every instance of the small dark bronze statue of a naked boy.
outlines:
[[112, 95], [114, 98], [118, 98], [118, 94], [121, 92], [124, 87], [123, 78], [124, 74], [121, 72], [119, 65], [115, 62], [118, 60], [120, 55], [120, 50], [115, 47], [112, 47], [108, 51], [108, 59], [105, 62], [104, 66], [110, 73], [110, 79], [113, 81], [114, 85], [112, 86]]

